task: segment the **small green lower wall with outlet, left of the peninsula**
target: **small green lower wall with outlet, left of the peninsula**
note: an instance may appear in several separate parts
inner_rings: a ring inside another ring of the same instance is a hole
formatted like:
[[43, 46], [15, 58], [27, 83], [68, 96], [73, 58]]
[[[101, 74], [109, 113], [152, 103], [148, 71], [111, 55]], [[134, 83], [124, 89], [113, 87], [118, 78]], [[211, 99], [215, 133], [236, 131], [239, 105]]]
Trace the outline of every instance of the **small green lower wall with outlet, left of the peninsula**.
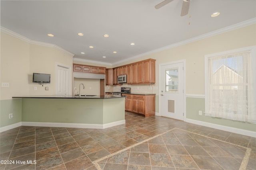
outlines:
[[[0, 100], [0, 127], [12, 125], [21, 122], [22, 117], [22, 100], [10, 99]], [[13, 118], [9, 119], [9, 114], [13, 114]]]

